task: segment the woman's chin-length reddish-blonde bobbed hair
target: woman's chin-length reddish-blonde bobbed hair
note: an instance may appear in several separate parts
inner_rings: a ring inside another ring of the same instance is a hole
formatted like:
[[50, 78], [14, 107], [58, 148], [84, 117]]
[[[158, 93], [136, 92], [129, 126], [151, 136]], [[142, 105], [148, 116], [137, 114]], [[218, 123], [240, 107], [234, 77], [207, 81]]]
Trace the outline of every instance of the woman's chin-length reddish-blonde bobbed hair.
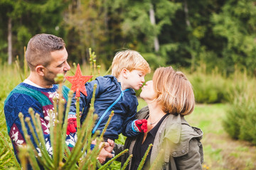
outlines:
[[182, 72], [160, 67], [153, 76], [156, 101], [165, 113], [188, 115], [195, 107], [193, 87]]

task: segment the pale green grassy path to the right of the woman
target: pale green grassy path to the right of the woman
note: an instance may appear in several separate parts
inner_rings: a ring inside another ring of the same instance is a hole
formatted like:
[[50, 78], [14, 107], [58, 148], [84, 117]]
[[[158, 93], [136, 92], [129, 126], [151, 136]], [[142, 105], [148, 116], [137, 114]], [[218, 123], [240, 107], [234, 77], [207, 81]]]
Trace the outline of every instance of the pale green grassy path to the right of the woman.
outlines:
[[231, 139], [222, 126], [228, 104], [196, 105], [186, 116], [191, 126], [203, 130], [203, 169], [228, 170], [256, 167], [256, 147], [249, 142]]

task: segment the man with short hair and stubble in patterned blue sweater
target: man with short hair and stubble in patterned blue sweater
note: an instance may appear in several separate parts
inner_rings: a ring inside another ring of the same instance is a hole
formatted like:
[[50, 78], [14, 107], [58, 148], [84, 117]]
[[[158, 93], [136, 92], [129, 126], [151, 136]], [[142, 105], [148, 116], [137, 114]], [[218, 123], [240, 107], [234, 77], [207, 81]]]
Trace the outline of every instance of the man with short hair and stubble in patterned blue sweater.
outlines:
[[[18, 113], [23, 113], [24, 118], [31, 117], [28, 108], [33, 108], [35, 113], [40, 115], [46, 147], [48, 147], [48, 153], [52, 154], [49, 111], [53, 110], [53, 97], [58, 98], [56, 92], [58, 85], [55, 84], [54, 78], [57, 74], [65, 75], [70, 70], [67, 60], [68, 52], [62, 38], [55, 35], [38, 34], [29, 40], [26, 61], [31, 70], [30, 75], [11, 91], [4, 103], [8, 133], [14, 146], [16, 158], [18, 158], [18, 147], [26, 142]], [[66, 101], [68, 100], [68, 91], [68, 87], [63, 86], [63, 97]], [[31, 136], [31, 140], [37, 148], [29, 130], [28, 135]]]

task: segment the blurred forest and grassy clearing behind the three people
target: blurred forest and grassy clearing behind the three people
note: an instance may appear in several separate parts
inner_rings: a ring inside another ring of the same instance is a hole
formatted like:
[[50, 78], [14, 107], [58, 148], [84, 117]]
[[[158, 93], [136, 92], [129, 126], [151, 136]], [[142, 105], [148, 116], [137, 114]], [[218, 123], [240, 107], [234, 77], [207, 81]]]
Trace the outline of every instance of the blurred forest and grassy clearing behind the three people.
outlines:
[[[23, 68], [23, 47], [33, 35], [63, 38], [68, 62], [82, 64], [83, 72], [89, 47], [102, 70], [129, 48], [152, 72], [171, 65], [193, 84], [197, 106], [188, 120], [205, 132], [204, 169], [255, 169], [256, 1], [0, 0], [0, 26], [1, 117], [19, 82], [14, 61], [18, 56]], [[10, 166], [6, 157], [1, 147], [1, 167]]]

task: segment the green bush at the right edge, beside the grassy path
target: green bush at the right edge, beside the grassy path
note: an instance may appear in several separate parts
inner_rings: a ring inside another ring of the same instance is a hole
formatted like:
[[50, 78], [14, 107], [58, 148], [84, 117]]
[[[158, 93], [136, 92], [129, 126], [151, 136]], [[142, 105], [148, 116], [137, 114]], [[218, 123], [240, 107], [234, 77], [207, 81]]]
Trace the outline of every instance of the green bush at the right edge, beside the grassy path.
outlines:
[[239, 140], [247, 140], [256, 145], [256, 79], [246, 74], [235, 74], [230, 109], [223, 120], [228, 134]]

